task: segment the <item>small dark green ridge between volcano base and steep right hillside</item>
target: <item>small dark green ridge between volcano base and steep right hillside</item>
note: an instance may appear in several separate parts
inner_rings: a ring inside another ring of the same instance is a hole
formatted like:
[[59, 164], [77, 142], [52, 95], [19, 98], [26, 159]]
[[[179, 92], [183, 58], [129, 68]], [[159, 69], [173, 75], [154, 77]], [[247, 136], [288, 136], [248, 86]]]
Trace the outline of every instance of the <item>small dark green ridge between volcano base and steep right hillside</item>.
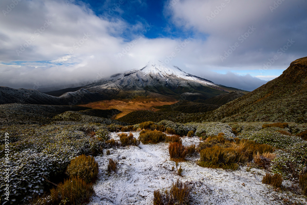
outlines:
[[194, 100], [193, 102], [195, 103], [205, 103], [205, 104], [212, 104], [212, 105], [225, 105], [226, 103], [229, 103], [232, 100], [235, 100], [237, 98], [240, 98], [244, 95], [243, 92], [239, 92], [239, 91], [232, 91], [230, 93], [227, 94], [221, 94], [215, 97], [212, 97], [210, 99], [206, 99], [206, 100]]

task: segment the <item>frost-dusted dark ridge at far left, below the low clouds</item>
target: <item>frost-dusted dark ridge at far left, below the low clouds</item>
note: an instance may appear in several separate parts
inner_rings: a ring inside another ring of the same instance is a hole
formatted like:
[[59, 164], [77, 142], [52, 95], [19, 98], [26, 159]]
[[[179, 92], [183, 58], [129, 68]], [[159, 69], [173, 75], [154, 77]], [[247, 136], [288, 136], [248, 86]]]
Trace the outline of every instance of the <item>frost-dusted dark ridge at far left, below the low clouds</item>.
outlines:
[[64, 93], [60, 97], [54, 97], [33, 89], [0, 87], [0, 104], [76, 105], [102, 99], [104, 99], [103, 95], [91, 93], [85, 89]]

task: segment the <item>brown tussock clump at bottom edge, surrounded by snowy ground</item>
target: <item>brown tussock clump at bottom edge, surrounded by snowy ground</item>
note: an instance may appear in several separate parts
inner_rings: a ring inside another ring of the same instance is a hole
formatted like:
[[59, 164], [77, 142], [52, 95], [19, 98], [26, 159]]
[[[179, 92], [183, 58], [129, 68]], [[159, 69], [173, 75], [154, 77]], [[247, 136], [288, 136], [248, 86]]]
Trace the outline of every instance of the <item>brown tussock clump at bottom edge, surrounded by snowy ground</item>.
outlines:
[[182, 183], [177, 180], [176, 183], [173, 183], [170, 190], [162, 193], [159, 190], [153, 192], [153, 204], [154, 205], [188, 205], [191, 202], [191, 193], [192, 187], [188, 182]]

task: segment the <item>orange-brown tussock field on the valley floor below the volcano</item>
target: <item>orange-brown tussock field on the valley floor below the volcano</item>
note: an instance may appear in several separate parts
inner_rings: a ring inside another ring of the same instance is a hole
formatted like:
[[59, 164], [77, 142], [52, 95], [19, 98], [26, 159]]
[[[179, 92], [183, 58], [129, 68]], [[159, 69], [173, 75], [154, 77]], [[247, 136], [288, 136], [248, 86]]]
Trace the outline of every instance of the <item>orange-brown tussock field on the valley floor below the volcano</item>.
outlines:
[[134, 99], [102, 100], [80, 106], [91, 107], [93, 109], [101, 109], [101, 110], [112, 109], [112, 108], [118, 109], [122, 112], [113, 117], [114, 119], [118, 119], [136, 110], [152, 110], [156, 112], [158, 109], [153, 108], [154, 106], [171, 105], [177, 102], [178, 100], [171, 97], [165, 97], [165, 98], [137, 97]]

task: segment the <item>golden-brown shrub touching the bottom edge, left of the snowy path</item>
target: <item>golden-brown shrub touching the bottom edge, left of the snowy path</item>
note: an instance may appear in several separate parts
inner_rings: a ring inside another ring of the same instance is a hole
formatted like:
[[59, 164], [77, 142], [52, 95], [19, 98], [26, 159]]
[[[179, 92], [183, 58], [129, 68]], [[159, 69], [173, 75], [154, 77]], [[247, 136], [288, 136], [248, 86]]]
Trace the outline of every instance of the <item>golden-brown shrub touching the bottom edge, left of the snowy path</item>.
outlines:
[[94, 189], [92, 184], [87, 184], [84, 180], [73, 177], [67, 179], [64, 183], [58, 184], [56, 188], [50, 190], [47, 197], [38, 198], [34, 203], [36, 205], [80, 205], [90, 201]]

